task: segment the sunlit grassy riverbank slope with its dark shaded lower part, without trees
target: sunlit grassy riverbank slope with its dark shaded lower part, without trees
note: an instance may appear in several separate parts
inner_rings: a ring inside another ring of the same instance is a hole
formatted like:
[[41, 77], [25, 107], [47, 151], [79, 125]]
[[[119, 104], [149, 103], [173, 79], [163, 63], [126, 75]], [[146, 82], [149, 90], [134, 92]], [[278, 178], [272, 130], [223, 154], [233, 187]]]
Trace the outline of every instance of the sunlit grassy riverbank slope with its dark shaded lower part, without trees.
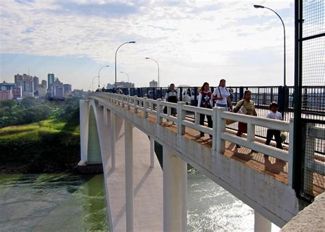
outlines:
[[[56, 172], [80, 161], [79, 112], [0, 129], [0, 172]], [[12, 172], [12, 171], [9, 171]]]

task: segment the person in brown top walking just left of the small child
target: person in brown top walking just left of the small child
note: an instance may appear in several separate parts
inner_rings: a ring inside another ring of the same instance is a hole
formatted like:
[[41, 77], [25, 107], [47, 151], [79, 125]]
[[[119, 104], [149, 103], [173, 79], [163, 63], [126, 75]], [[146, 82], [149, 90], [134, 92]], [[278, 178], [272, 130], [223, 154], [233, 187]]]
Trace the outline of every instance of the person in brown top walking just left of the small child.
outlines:
[[[245, 107], [245, 114], [247, 115], [252, 115], [252, 116], [257, 116], [254, 102], [251, 100], [252, 99], [252, 92], [250, 90], [245, 90], [243, 99], [237, 103], [237, 105], [232, 109], [232, 112], [237, 113], [241, 107]], [[247, 123], [238, 123], [238, 132], [237, 136], [241, 137], [243, 133], [247, 133]], [[237, 148], [241, 147], [238, 144], [236, 145]]]

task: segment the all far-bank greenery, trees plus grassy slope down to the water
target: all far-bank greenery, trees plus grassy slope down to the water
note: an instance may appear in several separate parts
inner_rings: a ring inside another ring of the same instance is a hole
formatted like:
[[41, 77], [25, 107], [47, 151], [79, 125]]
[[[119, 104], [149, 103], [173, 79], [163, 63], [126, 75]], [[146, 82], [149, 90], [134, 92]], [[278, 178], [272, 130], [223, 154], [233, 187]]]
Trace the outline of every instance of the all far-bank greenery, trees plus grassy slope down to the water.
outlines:
[[14, 123], [34, 123], [2, 125], [0, 172], [61, 172], [71, 170], [79, 162], [79, 99], [6, 101], [1, 102], [1, 109], [11, 112], [5, 117], [16, 118]]

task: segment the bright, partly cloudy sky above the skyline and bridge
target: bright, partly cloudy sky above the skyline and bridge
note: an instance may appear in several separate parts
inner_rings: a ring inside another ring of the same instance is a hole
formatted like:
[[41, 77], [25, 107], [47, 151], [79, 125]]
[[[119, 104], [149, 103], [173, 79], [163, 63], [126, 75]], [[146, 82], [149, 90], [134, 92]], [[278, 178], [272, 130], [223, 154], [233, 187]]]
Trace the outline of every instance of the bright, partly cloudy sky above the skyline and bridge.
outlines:
[[[281, 86], [285, 23], [293, 86], [294, 1], [1, 0], [0, 81], [54, 73], [73, 89], [128, 81], [160, 86]], [[145, 60], [151, 57], [156, 60]], [[124, 72], [124, 73], [121, 73]]]

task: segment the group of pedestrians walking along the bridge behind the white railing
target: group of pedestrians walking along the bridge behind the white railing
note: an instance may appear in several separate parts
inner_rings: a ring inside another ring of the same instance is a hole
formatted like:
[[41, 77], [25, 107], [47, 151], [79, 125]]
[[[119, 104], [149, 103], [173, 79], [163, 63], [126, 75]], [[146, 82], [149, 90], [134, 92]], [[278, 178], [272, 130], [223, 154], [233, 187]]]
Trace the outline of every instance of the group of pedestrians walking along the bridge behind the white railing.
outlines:
[[[169, 90], [166, 92], [165, 99], [171, 103], [177, 103], [177, 91], [173, 83], [170, 84]], [[204, 82], [200, 88], [197, 107], [212, 109], [214, 105], [213, 101], [216, 101], [215, 105], [217, 107], [224, 107], [227, 111], [234, 113], [240, 112], [241, 114], [257, 116], [254, 102], [252, 101], [252, 92], [250, 92], [250, 90], [245, 90], [243, 99], [241, 99], [241, 101], [238, 101], [238, 103], [232, 107], [232, 92], [226, 88], [225, 79], [221, 79], [219, 81], [219, 86], [215, 88], [213, 92], [210, 91], [208, 82]], [[176, 116], [176, 109], [171, 109], [171, 115]], [[213, 120], [209, 115], [200, 114], [200, 125], [204, 125], [205, 117], [208, 120], [208, 127], [212, 128]], [[267, 118], [282, 120], [282, 115], [280, 112], [278, 112], [278, 104], [276, 102], [270, 103], [269, 114], [267, 114]], [[237, 136], [241, 137], [243, 133], [247, 133], [247, 124], [239, 122]], [[200, 132], [200, 137], [203, 136], [204, 132]], [[265, 144], [269, 145], [273, 136], [276, 140], [276, 147], [278, 149], [282, 149], [282, 138], [280, 136], [280, 131], [275, 129], [267, 129], [267, 139]], [[212, 138], [211, 135], [210, 138]], [[240, 148], [238, 144], [236, 146], [237, 148]]]

